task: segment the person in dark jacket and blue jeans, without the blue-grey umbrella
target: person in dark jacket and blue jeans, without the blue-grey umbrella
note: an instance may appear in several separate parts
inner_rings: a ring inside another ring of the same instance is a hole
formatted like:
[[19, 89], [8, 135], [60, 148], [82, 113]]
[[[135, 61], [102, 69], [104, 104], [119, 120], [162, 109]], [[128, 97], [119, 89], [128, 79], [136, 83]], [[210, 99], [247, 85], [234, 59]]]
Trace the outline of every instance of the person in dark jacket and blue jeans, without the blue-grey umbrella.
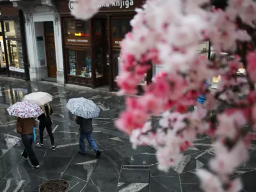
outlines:
[[99, 157], [101, 154], [101, 151], [98, 149], [95, 141], [92, 138], [92, 118], [83, 118], [81, 116], [76, 117], [76, 123], [77, 125], [80, 125], [80, 138], [79, 138], [79, 154], [84, 155], [85, 154], [85, 148], [84, 148], [84, 139], [86, 138], [89, 145], [93, 148], [96, 157]]

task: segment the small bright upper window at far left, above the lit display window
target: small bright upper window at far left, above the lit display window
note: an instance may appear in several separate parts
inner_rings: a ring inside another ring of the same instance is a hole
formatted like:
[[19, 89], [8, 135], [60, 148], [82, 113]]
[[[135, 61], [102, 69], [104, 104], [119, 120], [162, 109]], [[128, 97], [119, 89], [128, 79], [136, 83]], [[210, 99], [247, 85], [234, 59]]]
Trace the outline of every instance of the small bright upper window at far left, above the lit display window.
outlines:
[[4, 32], [6, 38], [20, 38], [19, 20], [4, 21]]

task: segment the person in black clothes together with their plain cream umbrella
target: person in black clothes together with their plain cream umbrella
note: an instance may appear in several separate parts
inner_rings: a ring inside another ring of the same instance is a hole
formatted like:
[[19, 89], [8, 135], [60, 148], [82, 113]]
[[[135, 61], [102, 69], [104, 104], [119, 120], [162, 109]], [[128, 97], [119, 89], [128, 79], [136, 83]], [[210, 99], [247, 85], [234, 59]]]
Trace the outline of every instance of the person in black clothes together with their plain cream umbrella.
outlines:
[[44, 129], [46, 127], [46, 131], [49, 134], [51, 144], [50, 147], [51, 150], [56, 150], [56, 147], [54, 145], [54, 137], [52, 134], [52, 120], [50, 115], [52, 114], [52, 108], [49, 104], [49, 102], [52, 101], [52, 95], [45, 92], [34, 92], [30, 93], [29, 95], [26, 95], [23, 99], [23, 101], [29, 101], [38, 104], [42, 111], [42, 115], [38, 116], [39, 122], [39, 138], [40, 142], [36, 144], [37, 147], [43, 148], [44, 147]]

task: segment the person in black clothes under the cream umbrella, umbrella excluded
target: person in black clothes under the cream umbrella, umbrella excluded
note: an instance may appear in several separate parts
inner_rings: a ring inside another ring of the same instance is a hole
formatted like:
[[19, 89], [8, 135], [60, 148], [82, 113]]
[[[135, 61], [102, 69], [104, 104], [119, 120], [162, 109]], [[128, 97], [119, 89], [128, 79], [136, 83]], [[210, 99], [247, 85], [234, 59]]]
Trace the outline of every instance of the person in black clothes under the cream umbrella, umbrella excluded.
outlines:
[[49, 103], [44, 104], [44, 106], [40, 106], [40, 108], [42, 109], [42, 111], [44, 111], [44, 113], [38, 116], [38, 120], [40, 121], [39, 122], [40, 142], [37, 143], [36, 145], [37, 147], [40, 147], [40, 148], [44, 147], [44, 129], [46, 127], [46, 131], [48, 132], [48, 135], [50, 137], [51, 144], [52, 144], [50, 148], [51, 150], [55, 150], [56, 147], [54, 145], [54, 137], [52, 134], [52, 120], [50, 117], [50, 115], [52, 115], [52, 108]]

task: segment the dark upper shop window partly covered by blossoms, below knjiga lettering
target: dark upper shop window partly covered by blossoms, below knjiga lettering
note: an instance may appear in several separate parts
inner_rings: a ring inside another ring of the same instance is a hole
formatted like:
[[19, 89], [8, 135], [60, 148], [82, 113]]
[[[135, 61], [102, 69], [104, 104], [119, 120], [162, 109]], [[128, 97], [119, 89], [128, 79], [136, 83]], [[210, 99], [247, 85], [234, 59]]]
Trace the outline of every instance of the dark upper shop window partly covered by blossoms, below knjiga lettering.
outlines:
[[131, 19], [113, 19], [113, 38], [122, 39], [125, 34], [131, 31]]

